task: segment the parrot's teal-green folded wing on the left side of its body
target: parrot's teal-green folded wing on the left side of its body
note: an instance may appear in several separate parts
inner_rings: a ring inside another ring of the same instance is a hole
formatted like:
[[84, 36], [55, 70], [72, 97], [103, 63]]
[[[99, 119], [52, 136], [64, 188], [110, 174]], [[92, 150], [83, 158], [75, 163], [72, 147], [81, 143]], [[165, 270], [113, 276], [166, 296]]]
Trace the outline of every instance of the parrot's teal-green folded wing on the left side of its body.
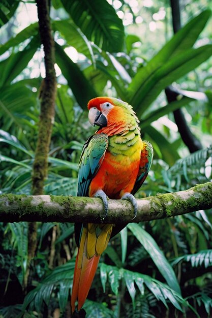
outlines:
[[79, 161], [78, 197], [88, 196], [90, 182], [102, 164], [107, 146], [108, 136], [106, 134], [95, 134], [84, 144]]

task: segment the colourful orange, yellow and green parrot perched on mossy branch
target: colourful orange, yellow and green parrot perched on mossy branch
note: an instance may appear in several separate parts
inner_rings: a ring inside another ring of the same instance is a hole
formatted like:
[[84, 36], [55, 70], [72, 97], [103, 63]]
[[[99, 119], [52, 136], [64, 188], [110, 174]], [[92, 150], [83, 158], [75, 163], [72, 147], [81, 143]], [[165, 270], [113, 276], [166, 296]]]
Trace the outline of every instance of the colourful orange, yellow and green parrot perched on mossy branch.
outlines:
[[[153, 160], [153, 147], [140, 137], [139, 120], [132, 106], [116, 98], [98, 97], [88, 103], [88, 119], [98, 131], [84, 144], [79, 161], [80, 197], [103, 201], [125, 199], [134, 206], [134, 194], [144, 182]], [[71, 297], [72, 313], [79, 312], [92, 285], [99, 259], [109, 239], [122, 227], [113, 224], [75, 224], [79, 247]], [[77, 304], [76, 304], [77, 303]]]

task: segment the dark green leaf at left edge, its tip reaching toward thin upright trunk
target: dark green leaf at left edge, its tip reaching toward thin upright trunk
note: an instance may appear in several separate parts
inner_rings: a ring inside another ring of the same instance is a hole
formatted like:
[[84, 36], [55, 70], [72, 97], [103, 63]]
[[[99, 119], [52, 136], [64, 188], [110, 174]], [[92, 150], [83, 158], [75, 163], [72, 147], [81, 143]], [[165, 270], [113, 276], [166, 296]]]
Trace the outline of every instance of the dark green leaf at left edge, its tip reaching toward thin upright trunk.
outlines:
[[7, 59], [0, 62], [0, 87], [11, 83], [25, 69], [39, 45], [40, 41], [35, 37], [23, 51], [12, 53]]

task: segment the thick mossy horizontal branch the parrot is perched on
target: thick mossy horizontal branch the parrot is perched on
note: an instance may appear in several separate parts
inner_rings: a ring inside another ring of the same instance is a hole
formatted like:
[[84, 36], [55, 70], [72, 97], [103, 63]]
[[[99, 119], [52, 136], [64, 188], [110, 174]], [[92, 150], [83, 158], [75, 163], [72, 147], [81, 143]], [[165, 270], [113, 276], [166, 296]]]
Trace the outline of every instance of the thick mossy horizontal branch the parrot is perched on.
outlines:
[[[212, 182], [188, 190], [159, 194], [137, 200], [138, 214], [125, 200], [108, 200], [109, 212], [104, 223], [149, 221], [212, 208]], [[102, 201], [97, 198], [63, 196], [0, 196], [0, 221], [96, 222], [104, 216]]]

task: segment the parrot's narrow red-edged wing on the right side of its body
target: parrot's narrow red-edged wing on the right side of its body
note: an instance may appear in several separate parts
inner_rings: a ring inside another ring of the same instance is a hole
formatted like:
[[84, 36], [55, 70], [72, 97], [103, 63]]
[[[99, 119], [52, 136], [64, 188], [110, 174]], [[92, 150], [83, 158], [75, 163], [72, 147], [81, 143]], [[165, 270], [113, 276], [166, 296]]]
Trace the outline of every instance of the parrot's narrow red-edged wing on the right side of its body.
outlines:
[[142, 183], [146, 179], [149, 169], [153, 162], [153, 146], [150, 142], [144, 140], [143, 141], [143, 149], [141, 151], [140, 158], [140, 168], [138, 172], [137, 179], [135, 181], [135, 185], [133, 190], [131, 191], [132, 195], [134, 195], [138, 189], [141, 187]]

